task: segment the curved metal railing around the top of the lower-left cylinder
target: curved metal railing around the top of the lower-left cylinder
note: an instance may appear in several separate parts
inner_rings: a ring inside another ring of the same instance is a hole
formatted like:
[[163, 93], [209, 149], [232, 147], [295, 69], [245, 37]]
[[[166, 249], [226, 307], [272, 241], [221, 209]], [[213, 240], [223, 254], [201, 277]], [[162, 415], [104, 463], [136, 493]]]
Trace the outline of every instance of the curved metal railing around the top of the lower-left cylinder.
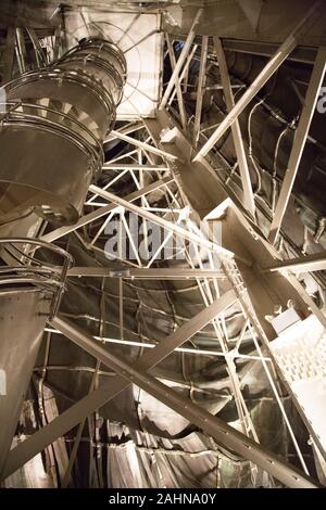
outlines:
[[[23, 251], [18, 247], [22, 244], [25, 246]], [[28, 250], [30, 245], [33, 248]], [[25, 283], [33, 284], [41, 290], [46, 289], [47, 291], [51, 291], [53, 293], [53, 299], [50, 316], [53, 317], [58, 311], [61, 297], [65, 290], [67, 270], [72, 267], [74, 262], [71, 254], [55, 244], [30, 238], [0, 238], [0, 247], [1, 246], [15, 262], [21, 264], [18, 264], [18, 266], [0, 267], [0, 285]], [[39, 248], [46, 248], [60, 255], [63, 260], [62, 266], [54, 266], [53, 264], [37, 258], [34, 252]], [[11, 250], [17, 252], [20, 256], [17, 257]], [[30, 256], [32, 252], [33, 256]], [[28, 263], [24, 264], [23, 260], [26, 258]]]

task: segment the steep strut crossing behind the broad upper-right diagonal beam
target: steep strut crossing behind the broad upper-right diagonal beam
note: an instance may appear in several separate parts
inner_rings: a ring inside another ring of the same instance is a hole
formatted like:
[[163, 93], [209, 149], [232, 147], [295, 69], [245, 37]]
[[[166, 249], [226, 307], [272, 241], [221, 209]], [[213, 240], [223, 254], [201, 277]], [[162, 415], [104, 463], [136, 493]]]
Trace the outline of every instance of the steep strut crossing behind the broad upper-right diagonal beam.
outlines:
[[[227, 111], [229, 113], [235, 107], [235, 99], [233, 94], [233, 89], [231, 89], [231, 84], [229, 79], [228, 68], [226, 65], [223, 46], [218, 37], [214, 37], [214, 48], [215, 48], [215, 52], [216, 52], [216, 56], [217, 56], [217, 61], [220, 65], [220, 76], [221, 76], [221, 81], [223, 85], [225, 103], [226, 103]], [[255, 209], [254, 196], [252, 192], [247, 155], [244, 151], [244, 144], [243, 144], [241, 128], [240, 128], [238, 118], [231, 125], [231, 132], [233, 132], [233, 139], [234, 139], [234, 144], [236, 149], [236, 154], [237, 154], [237, 160], [238, 160], [240, 176], [241, 176], [241, 182], [242, 182], [242, 189], [243, 189], [243, 205], [254, 217], [254, 209]]]

